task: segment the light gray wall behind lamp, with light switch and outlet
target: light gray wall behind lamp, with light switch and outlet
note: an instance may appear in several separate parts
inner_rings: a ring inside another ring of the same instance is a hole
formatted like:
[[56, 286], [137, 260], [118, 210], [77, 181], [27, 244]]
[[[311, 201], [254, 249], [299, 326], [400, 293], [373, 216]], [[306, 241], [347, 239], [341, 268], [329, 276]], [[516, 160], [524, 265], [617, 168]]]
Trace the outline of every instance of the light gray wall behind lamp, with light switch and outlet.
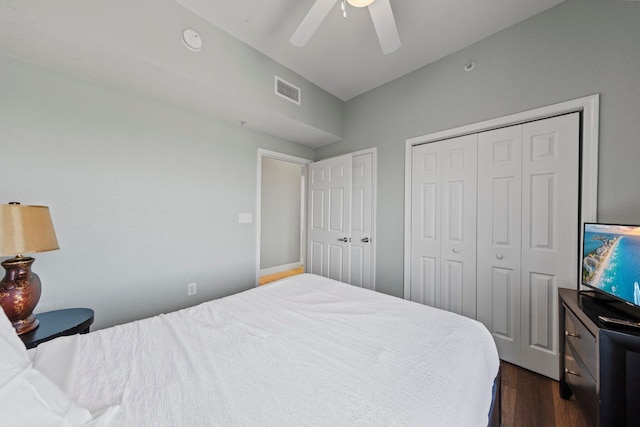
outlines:
[[101, 328], [253, 286], [257, 149], [313, 149], [6, 56], [0, 76], [0, 202], [49, 206], [60, 244], [36, 311]]

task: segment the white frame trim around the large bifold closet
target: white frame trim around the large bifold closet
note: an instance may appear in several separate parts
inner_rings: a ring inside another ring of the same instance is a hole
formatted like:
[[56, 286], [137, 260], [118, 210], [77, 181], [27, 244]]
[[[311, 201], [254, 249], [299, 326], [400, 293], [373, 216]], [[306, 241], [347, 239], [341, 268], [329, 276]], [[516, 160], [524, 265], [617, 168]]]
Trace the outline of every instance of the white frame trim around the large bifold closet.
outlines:
[[[404, 298], [409, 299], [411, 290], [411, 165], [413, 146], [442, 139], [453, 138], [544, 119], [565, 113], [582, 112], [582, 159], [581, 159], [581, 206], [580, 221], [594, 222], [598, 210], [598, 129], [600, 94], [511, 114], [484, 122], [447, 129], [427, 135], [416, 136], [405, 141], [404, 162]], [[582, 245], [580, 244], [579, 247]], [[577, 287], [578, 284], [576, 284]]]

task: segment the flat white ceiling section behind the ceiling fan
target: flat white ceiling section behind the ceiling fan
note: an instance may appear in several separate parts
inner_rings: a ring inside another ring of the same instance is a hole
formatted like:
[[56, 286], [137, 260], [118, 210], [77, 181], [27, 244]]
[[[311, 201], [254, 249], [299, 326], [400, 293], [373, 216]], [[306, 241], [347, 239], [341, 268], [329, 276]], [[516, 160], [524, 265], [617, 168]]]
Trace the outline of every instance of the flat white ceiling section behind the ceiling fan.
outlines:
[[289, 39], [315, 0], [175, 1], [346, 101], [564, 0], [391, 0], [402, 46], [389, 55], [367, 9], [344, 19], [340, 0], [302, 48]]

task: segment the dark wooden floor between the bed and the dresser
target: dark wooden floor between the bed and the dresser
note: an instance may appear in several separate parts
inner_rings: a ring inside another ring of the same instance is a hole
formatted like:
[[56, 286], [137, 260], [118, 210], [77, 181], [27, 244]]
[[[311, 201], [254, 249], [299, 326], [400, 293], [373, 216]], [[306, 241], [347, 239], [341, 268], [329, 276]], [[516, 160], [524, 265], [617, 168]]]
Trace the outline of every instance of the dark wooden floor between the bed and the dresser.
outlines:
[[564, 400], [558, 382], [501, 362], [503, 427], [586, 427], [575, 398]]

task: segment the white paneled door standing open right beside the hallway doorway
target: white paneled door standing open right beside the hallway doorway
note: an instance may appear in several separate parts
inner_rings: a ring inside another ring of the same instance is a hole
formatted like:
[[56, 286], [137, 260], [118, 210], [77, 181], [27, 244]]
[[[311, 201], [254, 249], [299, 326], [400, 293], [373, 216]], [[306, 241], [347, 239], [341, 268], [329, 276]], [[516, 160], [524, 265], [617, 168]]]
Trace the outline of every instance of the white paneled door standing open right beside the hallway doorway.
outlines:
[[350, 280], [352, 155], [309, 165], [307, 272]]

